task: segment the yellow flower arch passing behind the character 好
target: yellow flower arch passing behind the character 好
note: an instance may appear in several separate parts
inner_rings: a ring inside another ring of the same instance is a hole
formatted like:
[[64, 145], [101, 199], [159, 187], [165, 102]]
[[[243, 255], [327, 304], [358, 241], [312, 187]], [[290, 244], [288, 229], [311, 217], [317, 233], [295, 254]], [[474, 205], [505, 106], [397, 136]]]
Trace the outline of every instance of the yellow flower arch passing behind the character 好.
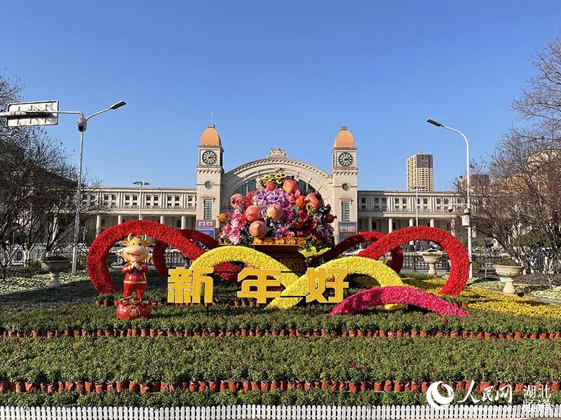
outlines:
[[[325, 262], [318, 268], [346, 268], [349, 274], [365, 274], [377, 279], [380, 286], [403, 286], [400, 276], [387, 265], [364, 257], [337, 258]], [[283, 283], [284, 284], [284, 283]], [[285, 286], [286, 287], [286, 286]], [[308, 292], [306, 275], [300, 276], [283, 290], [285, 296], [305, 296]], [[281, 295], [281, 296], [282, 296]], [[269, 308], [288, 309], [295, 306], [302, 297], [277, 297], [269, 304]]]

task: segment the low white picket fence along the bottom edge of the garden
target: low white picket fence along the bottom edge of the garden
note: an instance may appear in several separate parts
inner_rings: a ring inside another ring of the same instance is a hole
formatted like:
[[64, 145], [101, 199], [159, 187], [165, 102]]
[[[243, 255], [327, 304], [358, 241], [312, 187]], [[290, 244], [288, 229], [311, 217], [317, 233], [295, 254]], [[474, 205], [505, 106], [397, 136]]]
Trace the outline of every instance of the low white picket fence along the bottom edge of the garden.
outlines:
[[223, 407], [0, 407], [0, 420], [367, 420], [367, 419], [529, 419], [561, 418], [561, 405], [452, 405], [433, 409], [428, 405], [334, 407], [232, 405]]

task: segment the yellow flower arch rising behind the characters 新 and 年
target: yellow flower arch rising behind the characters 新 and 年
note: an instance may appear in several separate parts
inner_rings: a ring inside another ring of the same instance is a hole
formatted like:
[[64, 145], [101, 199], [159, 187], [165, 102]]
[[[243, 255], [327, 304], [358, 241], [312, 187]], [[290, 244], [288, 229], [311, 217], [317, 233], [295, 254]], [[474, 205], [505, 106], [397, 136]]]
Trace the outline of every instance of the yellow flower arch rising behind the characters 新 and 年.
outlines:
[[255, 251], [253, 248], [236, 245], [219, 246], [218, 248], [206, 251], [191, 263], [190, 268], [216, 267], [222, 264], [222, 262], [231, 261], [245, 262], [246, 265], [259, 269], [280, 269], [281, 274], [278, 279], [285, 287], [288, 287], [290, 283], [298, 279], [298, 276], [290, 272], [288, 267], [269, 257], [269, 255]]

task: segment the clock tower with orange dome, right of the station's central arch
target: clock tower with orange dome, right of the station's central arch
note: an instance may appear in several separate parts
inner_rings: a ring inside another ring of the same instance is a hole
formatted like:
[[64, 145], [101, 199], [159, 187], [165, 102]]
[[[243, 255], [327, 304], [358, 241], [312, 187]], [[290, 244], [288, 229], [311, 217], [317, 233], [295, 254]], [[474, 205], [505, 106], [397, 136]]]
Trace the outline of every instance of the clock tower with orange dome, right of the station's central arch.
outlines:
[[[331, 152], [333, 182], [332, 212], [337, 215], [334, 223], [335, 235], [339, 240], [346, 233], [357, 233], [358, 221], [358, 168], [356, 167], [356, 146], [353, 135], [346, 125], [341, 127], [335, 138]], [[344, 223], [340, 225], [340, 223]], [[354, 223], [354, 232], [350, 223]], [[339, 226], [340, 225], [340, 226]]]

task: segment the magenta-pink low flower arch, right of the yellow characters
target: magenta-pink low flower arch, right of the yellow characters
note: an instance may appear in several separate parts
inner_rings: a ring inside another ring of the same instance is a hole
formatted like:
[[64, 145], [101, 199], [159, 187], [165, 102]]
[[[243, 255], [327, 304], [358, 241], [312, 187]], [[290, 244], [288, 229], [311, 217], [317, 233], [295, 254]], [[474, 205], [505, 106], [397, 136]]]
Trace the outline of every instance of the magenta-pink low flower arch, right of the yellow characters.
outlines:
[[356, 314], [363, 309], [392, 303], [413, 304], [440, 315], [469, 316], [468, 312], [455, 307], [441, 297], [408, 286], [386, 286], [363, 290], [337, 304], [330, 315]]

